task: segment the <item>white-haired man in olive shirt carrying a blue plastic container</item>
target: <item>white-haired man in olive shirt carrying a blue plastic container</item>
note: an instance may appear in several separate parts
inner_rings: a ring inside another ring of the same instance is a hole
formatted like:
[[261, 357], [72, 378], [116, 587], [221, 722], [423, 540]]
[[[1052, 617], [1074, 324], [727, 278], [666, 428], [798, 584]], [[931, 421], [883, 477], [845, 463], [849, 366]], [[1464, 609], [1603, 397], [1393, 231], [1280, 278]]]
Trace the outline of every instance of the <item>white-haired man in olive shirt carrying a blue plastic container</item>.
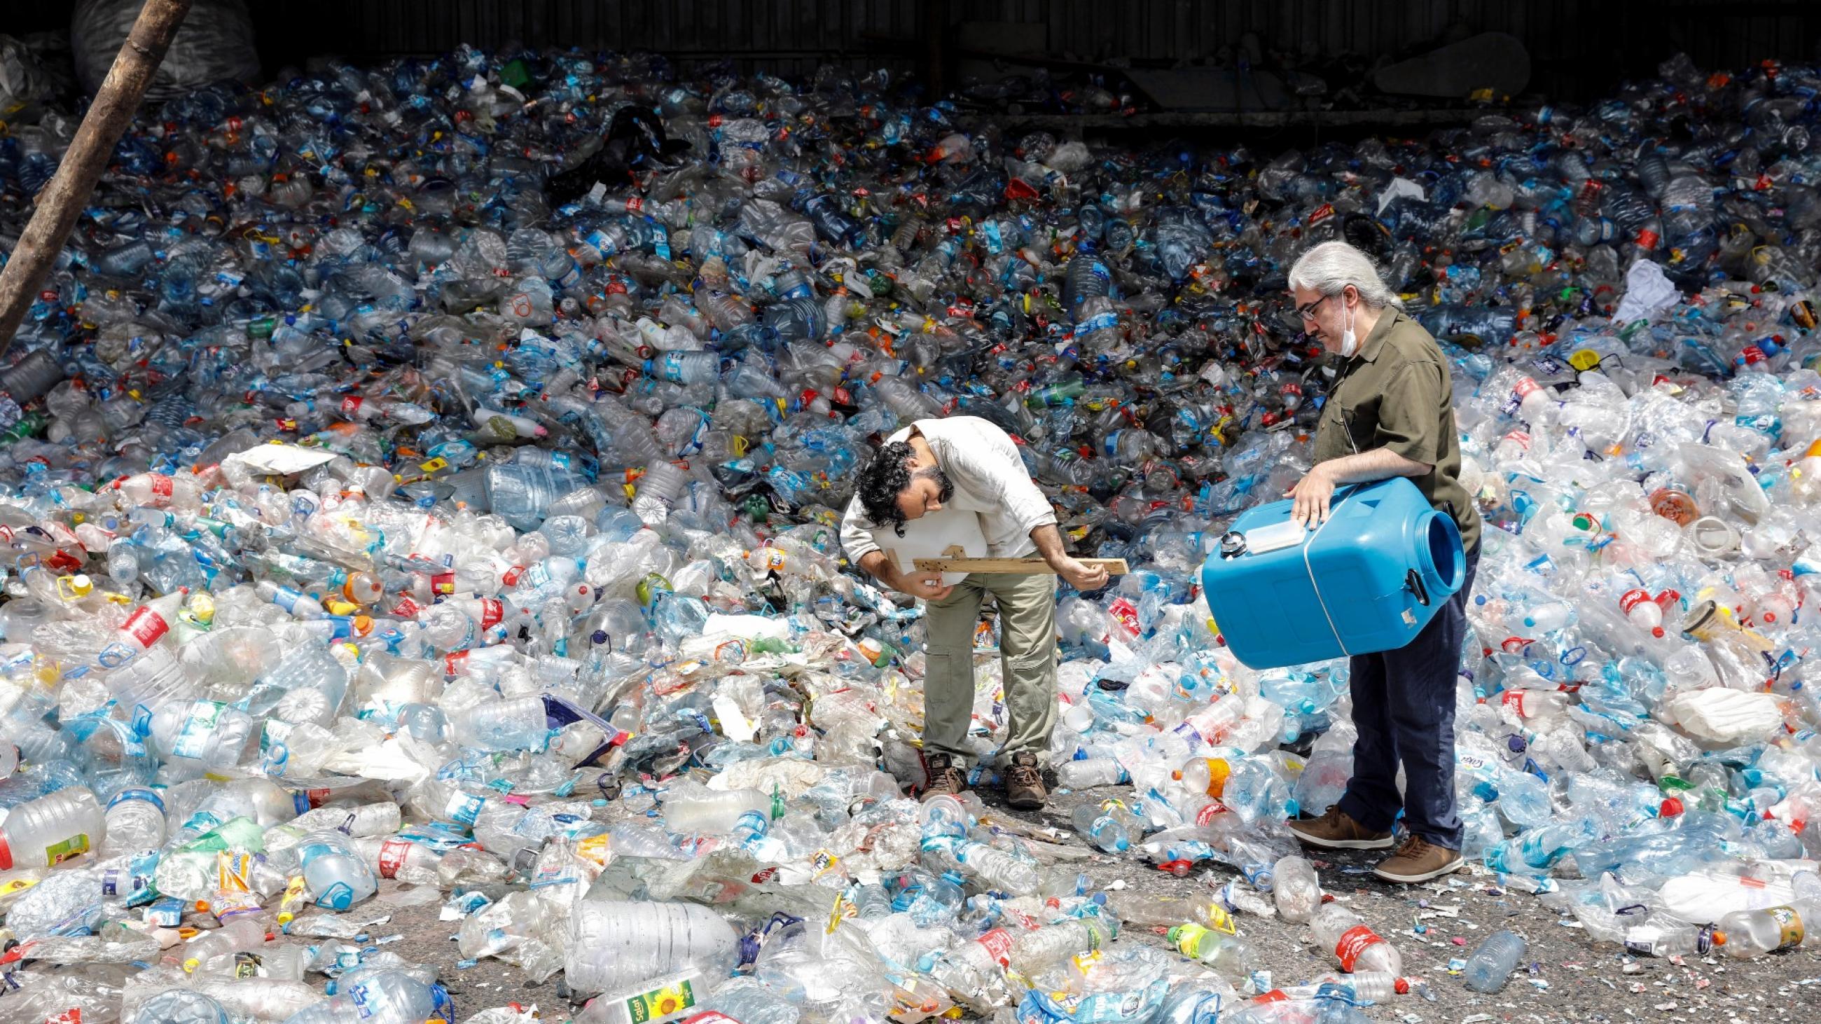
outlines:
[[1462, 865], [1455, 678], [1480, 534], [1479, 510], [1460, 486], [1448, 359], [1429, 332], [1404, 315], [1366, 253], [1346, 242], [1302, 253], [1289, 270], [1289, 292], [1293, 321], [1335, 364], [1315, 434], [1315, 466], [1289, 492], [1291, 519], [1324, 523], [1335, 486], [1402, 476], [1455, 519], [1468, 556], [1460, 592], [1409, 645], [1353, 656], [1353, 778], [1326, 814], [1289, 829], [1320, 849], [1388, 849], [1402, 813], [1404, 844], [1373, 873], [1388, 882], [1428, 882]]

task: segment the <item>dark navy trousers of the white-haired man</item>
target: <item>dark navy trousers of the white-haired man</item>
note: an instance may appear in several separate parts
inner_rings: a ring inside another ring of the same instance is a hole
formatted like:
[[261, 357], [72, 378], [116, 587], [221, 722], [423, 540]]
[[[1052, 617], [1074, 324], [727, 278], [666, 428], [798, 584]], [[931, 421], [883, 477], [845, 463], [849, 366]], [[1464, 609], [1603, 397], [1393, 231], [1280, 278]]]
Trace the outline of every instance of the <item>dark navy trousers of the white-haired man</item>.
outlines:
[[[1353, 689], [1353, 778], [1340, 809], [1368, 829], [1391, 829], [1399, 809], [1404, 827], [1435, 845], [1460, 849], [1455, 807], [1455, 680], [1460, 641], [1468, 632], [1468, 594], [1479, 552], [1468, 556], [1460, 590], [1408, 645], [1355, 654], [1348, 663]], [[1404, 793], [1397, 765], [1404, 763]]]

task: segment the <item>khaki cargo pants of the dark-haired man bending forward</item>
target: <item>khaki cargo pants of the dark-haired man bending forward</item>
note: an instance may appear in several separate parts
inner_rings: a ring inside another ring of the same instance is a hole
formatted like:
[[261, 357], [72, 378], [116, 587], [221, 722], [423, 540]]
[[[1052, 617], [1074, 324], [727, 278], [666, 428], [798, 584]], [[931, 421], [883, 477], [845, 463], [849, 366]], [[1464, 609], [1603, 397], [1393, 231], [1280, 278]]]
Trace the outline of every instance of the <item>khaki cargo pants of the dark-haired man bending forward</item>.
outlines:
[[980, 601], [1000, 605], [1000, 669], [1009, 729], [1003, 756], [1049, 751], [1056, 727], [1056, 578], [971, 572], [954, 592], [929, 601], [923, 656], [923, 753], [969, 762], [961, 745], [974, 714], [974, 627]]

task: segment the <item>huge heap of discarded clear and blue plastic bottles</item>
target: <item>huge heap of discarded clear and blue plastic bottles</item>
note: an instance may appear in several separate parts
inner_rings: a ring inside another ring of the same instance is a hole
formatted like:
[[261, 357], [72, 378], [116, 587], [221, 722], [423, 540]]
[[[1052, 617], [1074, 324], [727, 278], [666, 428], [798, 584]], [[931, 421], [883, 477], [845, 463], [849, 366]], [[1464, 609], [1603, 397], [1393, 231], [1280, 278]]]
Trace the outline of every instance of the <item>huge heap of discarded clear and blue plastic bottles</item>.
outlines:
[[[1282, 827], [1349, 774], [1346, 665], [1247, 671], [1195, 587], [1309, 465], [1328, 374], [1284, 273], [1340, 233], [1444, 339], [1488, 519], [1468, 855], [1595, 944], [1805, 942], [1817, 86], [1679, 58], [1269, 160], [575, 53], [149, 111], [0, 374], [0, 1017], [453, 1024], [437, 966], [362, 944], [401, 886], [590, 1022], [1400, 998], [1384, 922]], [[690, 149], [552, 208], [628, 102]], [[0, 138], [7, 235], [73, 126]], [[932, 415], [1003, 426], [1076, 550], [1134, 563], [1058, 607], [1058, 782], [1129, 783], [1073, 831], [914, 800], [921, 610], [836, 523]], [[1082, 844], [1211, 887], [1096, 891]], [[1264, 916], [1338, 973], [1262, 991]]]

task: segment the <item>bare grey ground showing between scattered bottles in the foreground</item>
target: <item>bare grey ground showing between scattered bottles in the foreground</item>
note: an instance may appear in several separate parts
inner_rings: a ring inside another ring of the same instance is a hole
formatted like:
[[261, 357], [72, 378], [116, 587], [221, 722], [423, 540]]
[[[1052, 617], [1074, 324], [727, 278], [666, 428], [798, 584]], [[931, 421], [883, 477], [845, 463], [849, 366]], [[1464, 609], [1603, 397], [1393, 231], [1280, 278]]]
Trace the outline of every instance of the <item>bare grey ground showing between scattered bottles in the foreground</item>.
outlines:
[[[1104, 800], [1116, 791], [1058, 794], [1053, 805], [1025, 820], [1069, 827], [1069, 811], [1087, 800]], [[994, 794], [983, 798], [1003, 811]], [[1655, 960], [1626, 957], [1613, 946], [1595, 947], [1579, 927], [1568, 927], [1535, 896], [1506, 893], [1484, 869], [1470, 869], [1428, 886], [1402, 887], [1378, 882], [1369, 867], [1375, 855], [1338, 855], [1317, 860], [1322, 886], [1346, 900], [1404, 957], [1408, 975], [1424, 978], [1422, 991], [1366, 1008], [1373, 1020], [1422, 1022], [1555, 1022], [1555, 1020], [1805, 1020], [1814, 1017], [1821, 998], [1821, 957], [1801, 949], [1759, 960], [1737, 962], [1723, 957]], [[1100, 886], [1124, 880], [1125, 887], [1165, 895], [1200, 895], [1209, 882], [1226, 882], [1231, 871], [1200, 867], [1189, 878], [1176, 878], [1136, 860], [1094, 856], [1083, 869]], [[399, 895], [388, 884], [381, 896], [361, 907], [364, 916], [382, 913], [384, 902]], [[392, 920], [370, 929], [375, 938], [402, 935], [393, 949], [413, 960], [435, 964], [455, 998], [461, 1020], [495, 1006], [537, 1004], [543, 1020], [565, 1020], [575, 1008], [561, 995], [561, 971], [548, 982], [530, 986], [517, 968], [499, 960], [481, 960], [457, 968], [452, 940], [457, 924], [437, 920], [443, 900], [392, 907]], [[1426, 931], [1419, 933], [1417, 926]], [[1275, 984], [1295, 984], [1335, 969], [1333, 958], [1313, 946], [1306, 926], [1278, 918], [1240, 918], [1242, 935], [1253, 944], [1260, 964]], [[1464, 958], [1488, 933], [1508, 927], [1530, 944], [1530, 966], [1511, 977], [1497, 995], [1466, 989], [1448, 973], [1453, 958]], [[1147, 942], [1167, 947], [1164, 937], [1129, 929], [1120, 942]]]

